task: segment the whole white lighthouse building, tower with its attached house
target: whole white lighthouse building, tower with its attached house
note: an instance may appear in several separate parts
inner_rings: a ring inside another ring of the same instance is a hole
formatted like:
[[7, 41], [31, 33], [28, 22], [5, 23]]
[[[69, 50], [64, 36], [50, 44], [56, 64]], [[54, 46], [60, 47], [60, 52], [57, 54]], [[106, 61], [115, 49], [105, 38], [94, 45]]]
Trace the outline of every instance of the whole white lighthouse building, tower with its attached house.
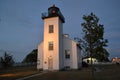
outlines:
[[63, 35], [65, 19], [60, 9], [53, 5], [47, 13], [42, 14], [44, 20], [44, 38], [38, 46], [38, 69], [60, 70], [65, 67], [79, 67], [79, 49], [77, 43]]

